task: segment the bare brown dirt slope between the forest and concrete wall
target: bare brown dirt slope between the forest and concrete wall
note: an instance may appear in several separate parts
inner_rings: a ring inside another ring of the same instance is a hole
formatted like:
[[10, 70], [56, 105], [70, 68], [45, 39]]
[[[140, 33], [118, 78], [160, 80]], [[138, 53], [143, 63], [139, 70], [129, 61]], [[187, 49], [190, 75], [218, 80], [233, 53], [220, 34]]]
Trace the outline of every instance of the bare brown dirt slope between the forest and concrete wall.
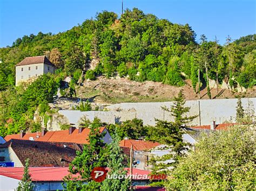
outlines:
[[[172, 101], [180, 89], [184, 90], [186, 100], [197, 100], [190, 80], [186, 80], [183, 87], [169, 86], [161, 82], [135, 82], [125, 78], [107, 79], [100, 76], [96, 81], [84, 81], [83, 86], [77, 88], [77, 95], [83, 98], [91, 98], [98, 103], [122, 103], [122, 102], [164, 102]], [[246, 93], [237, 93], [228, 89], [211, 89], [212, 98], [255, 97], [256, 87], [248, 89]], [[200, 91], [201, 99], [208, 99], [206, 88]]]

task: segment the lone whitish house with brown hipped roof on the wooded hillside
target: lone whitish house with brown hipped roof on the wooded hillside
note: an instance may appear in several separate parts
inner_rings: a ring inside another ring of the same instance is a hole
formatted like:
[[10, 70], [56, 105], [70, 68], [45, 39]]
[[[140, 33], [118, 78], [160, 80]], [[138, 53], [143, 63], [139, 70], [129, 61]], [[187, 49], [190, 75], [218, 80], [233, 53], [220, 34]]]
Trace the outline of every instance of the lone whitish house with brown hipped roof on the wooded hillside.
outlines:
[[45, 56], [26, 57], [16, 65], [16, 86], [39, 75], [54, 73], [56, 67]]

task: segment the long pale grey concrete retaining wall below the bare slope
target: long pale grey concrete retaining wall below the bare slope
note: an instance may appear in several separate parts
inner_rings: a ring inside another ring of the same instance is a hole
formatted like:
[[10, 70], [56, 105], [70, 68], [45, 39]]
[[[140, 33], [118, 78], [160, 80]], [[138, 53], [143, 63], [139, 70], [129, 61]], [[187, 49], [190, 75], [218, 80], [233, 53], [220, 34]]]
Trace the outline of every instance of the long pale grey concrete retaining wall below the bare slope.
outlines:
[[[248, 108], [249, 101], [252, 103], [250, 109], [255, 111], [256, 98], [242, 98], [244, 109]], [[173, 102], [150, 102], [150, 103], [119, 103], [107, 106], [109, 111], [72, 111], [60, 110], [59, 113], [69, 119], [70, 123], [78, 124], [82, 116], [93, 120], [98, 117], [105, 123], [118, 123], [137, 117], [143, 119], [145, 125], [155, 125], [157, 119], [173, 121], [170, 113], [161, 107], [170, 108]], [[198, 115], [190, 125], [210, 125], [214, 120], [216, 124], [225, 121], [235, 122], [237, 99], [218, 100], [192, 100], [186, 101], [187, 107], [191, 107], [189, 115]]]

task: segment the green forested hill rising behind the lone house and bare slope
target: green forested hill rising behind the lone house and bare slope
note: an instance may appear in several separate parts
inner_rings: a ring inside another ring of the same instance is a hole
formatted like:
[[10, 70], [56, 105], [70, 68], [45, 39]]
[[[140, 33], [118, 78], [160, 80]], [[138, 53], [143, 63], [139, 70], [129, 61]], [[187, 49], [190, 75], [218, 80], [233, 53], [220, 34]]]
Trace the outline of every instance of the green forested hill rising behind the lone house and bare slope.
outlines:
[[228, 37], [225, 46], [204, 35], [200, 42], [195, 37], [188, 24], [174, 24], [136, 8], [127, 9], [120, 17], [103, 11], [69, 31], [30, 34], [11, 47], [0, 48], [0, 89], [14, 86], [19, 61], [44, 54], [59, 68], [58, 73], [65, 75], [86, 70], [92, 60], [99, 61], [95, 70], [87, 71], [90, 79], [118, 74], [135, 81], [183, 86], [189, 78], [196, 90], [200, 69], [202, 84], [212, 79], [231, 86], [240, 83], [245, 88], [255, 85], [255, 34], [235, 41]]

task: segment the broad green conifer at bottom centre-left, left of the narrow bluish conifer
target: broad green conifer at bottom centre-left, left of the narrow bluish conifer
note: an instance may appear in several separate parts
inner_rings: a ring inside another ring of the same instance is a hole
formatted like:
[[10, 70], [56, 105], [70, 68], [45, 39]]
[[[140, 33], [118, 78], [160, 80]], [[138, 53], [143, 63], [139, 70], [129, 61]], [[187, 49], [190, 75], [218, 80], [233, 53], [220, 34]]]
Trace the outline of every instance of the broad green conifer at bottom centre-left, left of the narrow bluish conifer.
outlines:
[[[106, 166], [106, 148], [99, 127], [91, 125], [88, 142], [83, 152], [77, 151], [76, 158], [69, 166], [70, 174], [65, 176], [64, 187], [68, 190], [97, 190], [100, 183], [91, 179], [92, 169]], [[78, 176], [74, 176], [78, 175]], [[86, 184], [85, 184], [86, 182]]]

